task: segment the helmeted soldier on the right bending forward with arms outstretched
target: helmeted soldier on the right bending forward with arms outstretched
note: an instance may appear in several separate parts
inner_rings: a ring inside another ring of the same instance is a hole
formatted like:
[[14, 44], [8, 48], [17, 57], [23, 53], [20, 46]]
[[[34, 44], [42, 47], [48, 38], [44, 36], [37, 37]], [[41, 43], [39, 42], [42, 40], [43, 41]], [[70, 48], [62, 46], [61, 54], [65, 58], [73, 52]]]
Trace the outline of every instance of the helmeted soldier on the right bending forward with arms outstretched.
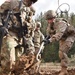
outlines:
[[75, 41], [75, 29], [65, 19], [56, 18], [56, 13], [53, 10], [47, 11], [45, 17], [48, 21], [47, 35], [50, 36], [50, 39], [45, 40], [45, 43], [59, 41], [59, 58], [61, 60], [61, 72], [59, 75], [68, 75], [67, 53]]

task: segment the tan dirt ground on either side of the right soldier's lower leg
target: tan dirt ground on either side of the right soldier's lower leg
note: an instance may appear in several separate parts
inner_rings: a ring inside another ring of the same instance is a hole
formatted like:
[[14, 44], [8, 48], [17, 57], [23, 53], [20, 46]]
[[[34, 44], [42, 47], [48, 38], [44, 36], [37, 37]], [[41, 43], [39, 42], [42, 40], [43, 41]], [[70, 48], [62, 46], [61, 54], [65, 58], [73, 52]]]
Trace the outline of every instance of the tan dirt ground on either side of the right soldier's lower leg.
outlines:
[[[42, 63], [39, 69], [40, 75], [59, 75], [60, 64], [59, 63]], [[68, 75], [75, 75], [75, 66], [69, 65]]]

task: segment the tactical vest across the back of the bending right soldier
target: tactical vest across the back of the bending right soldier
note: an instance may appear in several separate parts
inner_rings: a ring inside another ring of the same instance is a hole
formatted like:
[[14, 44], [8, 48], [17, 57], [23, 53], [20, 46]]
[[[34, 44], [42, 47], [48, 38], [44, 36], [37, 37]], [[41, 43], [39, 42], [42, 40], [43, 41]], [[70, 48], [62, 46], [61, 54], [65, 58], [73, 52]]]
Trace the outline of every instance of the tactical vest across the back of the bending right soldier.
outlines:
[[[63, 19], [63, 18], [56, 18], [54, 23], [55, 23], [55, 25], [56, 25], [57, 22], [60, 23], [60, 22], [62, 22], [62, 21], [64, 21], [64, 22], [66, 23], [67, 28], [66, 28], [66, 30], [64, 31], [63, 36], [61, 37], [61, 40], [66, 40], [67, 37], [69, 37], [69, 36], [75, 36], [75, 28], [73, 27], [73, 25], [70, 25], [70, 24], [67, 22], [67, 20], [65, 20], [65, 19]], [[56, 26], [57, 26], [57, 25], [56, 25]]]

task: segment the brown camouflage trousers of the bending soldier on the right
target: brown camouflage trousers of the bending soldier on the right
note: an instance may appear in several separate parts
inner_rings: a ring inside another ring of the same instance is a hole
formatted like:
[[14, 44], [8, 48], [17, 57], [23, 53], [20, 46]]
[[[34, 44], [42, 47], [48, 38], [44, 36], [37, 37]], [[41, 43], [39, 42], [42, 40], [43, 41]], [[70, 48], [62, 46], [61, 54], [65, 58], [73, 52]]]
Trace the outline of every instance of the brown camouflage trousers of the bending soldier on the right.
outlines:
[[67, 68], [68, 66], [68, 51], [72, 48], [75, 41], [75, 36], [69, 36], [66, 40], [59, 42], [59, 58], [61, 60], [61, 67]]

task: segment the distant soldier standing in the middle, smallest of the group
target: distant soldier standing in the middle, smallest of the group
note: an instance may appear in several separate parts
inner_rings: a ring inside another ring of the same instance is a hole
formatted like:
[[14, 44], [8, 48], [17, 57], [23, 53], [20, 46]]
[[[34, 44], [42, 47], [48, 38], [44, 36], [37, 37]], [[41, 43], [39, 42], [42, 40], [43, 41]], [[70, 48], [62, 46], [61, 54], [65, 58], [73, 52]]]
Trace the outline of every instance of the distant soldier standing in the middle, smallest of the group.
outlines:
[[[44, 35], [40, 31], [40, 28], [41, 28], [41, 23], [40, 22], [36, 22], [36, 28], [35, 28], [35, 31], [34, 31], [34, 38], [33, 38], [34, 47], [35, 47], [35, 56], [36, 57], [37, 57], [37, 54], [39, 52], [41, 42], [42, 42], [42, 40], [44, 40]], [[39, 54], [38, 59], [41, 60], [41, 54]], [[36, 65], [36, 69], [35, 69], [36, 72], [39, 71], [39, 65], [40, 65], [40, 63], [41, 63], [41, 61], [37, 60], [37, 65]]]

